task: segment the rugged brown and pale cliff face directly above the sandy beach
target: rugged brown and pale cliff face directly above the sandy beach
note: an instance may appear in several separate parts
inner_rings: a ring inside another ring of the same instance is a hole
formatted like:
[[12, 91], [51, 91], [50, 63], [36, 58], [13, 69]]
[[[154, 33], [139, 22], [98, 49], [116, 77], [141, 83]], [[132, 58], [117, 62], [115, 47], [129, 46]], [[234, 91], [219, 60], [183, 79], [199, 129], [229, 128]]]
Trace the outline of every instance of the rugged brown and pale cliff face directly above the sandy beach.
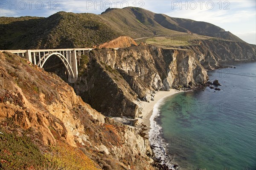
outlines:
[[107, 116], [138, 116], [137, 98], [151, 100], [154, 91], [195, 86], [207, 72], [191, 50], [168, 50], [141, 44], [95, 49], [83, 56], [82, 74], [73, 85], [82, 99]]

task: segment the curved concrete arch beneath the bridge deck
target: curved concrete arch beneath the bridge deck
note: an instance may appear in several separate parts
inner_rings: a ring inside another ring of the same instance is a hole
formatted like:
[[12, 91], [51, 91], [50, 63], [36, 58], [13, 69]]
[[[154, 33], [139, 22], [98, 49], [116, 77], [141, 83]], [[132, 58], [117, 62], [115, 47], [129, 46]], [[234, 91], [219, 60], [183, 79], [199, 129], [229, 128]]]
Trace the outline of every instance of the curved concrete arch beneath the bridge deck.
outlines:
[[53, 55], [56, 55], [57, 57], [59, 57], [61, 59], [61, 61], [63, 62], [63, 64], [65, 65], [65, 68], [68, 72], [68, 76], [75, 79], [75, 74], [72, 70], [72, 67], [70, 65], [70, 63], [67, 61], [67, 59], [64, 57], [64, 55], [62, 55], [61, 53], [58, 53], [58, 52], [53, 52], [53, 53], [48, 53], [48, 54], [45, 54], [43, 57], [40, 58], [40, 61], [38, 61], [37, 65], [41, 68], [43, 68], [45, 62], [47, 61], [47, 59], [49, 59], [49, 57], [53, 56]]

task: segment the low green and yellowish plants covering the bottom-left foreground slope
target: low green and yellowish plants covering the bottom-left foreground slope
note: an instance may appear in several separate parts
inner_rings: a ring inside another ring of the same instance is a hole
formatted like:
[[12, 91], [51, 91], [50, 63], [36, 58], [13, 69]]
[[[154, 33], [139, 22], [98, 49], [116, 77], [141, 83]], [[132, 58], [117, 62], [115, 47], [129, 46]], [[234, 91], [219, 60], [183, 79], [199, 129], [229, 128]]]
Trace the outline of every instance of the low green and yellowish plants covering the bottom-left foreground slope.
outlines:
[[[33, 128], [23, 130], [12, 118], [0, 123], [0, 163], [3, 169], [98, 170], [78, 148], [58, 141], [45, 146]], [[69, 154], [67, 154], [67, 152]]]

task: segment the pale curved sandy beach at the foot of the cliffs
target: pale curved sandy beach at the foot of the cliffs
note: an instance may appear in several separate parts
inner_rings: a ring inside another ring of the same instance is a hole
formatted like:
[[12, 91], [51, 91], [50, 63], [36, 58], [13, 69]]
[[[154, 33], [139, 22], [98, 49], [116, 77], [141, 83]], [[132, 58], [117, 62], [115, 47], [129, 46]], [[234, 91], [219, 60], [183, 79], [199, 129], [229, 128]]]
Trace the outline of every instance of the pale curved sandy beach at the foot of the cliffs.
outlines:
[[168, 96], [171, 96], [173, 94], [176, 94], [180, 91], [177, 91], [175, 89], [171, 89], [170, 91], [158, 91], [155, 96], [154, 96], [154, 101], [150, 101], [150, 102], [140, 102], [140, 106], [143, 108], [142, 109], [142, 114], [140, 115], [140, 117], [142, 116], [142, 118], [138, 118], [138, 124], [143, 123], [144, 125], [146, 125], [145, 127], [145, 133], [147, 134], [146, 137], [148, 137], [148, 132], [150, 130], [150, 117], [153, 113], [153, 108], [154, 105], [161, 99], [166, 98]]

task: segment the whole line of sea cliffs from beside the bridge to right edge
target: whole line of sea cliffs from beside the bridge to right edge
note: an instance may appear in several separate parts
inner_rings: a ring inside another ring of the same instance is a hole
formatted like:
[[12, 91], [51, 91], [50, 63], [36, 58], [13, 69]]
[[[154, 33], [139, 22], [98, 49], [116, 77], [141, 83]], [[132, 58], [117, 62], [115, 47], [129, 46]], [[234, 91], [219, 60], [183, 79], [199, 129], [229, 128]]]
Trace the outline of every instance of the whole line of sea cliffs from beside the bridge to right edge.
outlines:
[[[113, 42], [122, 41], [127, 42], [121, 37]], [[218, 68], [219, 61], [256, 60], [255, 45], [245, 42], [190, 43], [169, 48], [141, 43], [118, 50], [95, 49], [81, 57], [86, 62], [72, 86], [77, 95], [106, 116], [137, 118], [142, 108], [136, 101], [150, 102], [155, 91], [204, 85], [207, 70]]]

